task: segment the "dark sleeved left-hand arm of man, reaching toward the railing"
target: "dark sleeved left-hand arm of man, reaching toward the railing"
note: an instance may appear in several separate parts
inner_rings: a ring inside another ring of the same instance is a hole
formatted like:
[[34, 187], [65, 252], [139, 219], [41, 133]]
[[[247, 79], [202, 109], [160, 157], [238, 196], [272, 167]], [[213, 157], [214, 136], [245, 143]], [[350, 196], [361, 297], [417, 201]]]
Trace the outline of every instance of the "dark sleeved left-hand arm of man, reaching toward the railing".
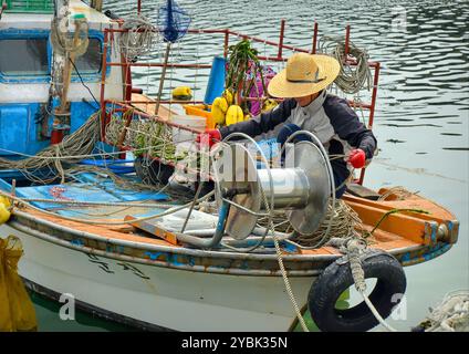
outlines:
[[285, 122], [295, 106], [296, 101], [285, 100], [272, 111], [261, 113], [249, 121], [223, 126], [220, 128], [221, 138], [225, 138], [231, 133], [244, 133], [251, 137], [268, 133], [280, 123]]

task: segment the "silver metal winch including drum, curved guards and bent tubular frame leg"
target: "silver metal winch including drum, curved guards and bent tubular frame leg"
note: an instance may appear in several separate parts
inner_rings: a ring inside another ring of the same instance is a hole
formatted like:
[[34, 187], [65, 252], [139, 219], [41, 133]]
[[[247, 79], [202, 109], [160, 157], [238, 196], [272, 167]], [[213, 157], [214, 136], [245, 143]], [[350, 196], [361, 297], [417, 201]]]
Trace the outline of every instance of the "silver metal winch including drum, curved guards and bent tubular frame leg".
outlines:
[[[332, 205], [335, 205], [334, 178], [327, 153], [319, 138], [311, 132], [300, 131], [292, 134], [283, 145], [281, 153], [283, 154], [285, 146], [299, 134], [306, 134], [311, 137], [311, 142], [300, 142], [296, 145], [300, 147], [293, 148], [291, 152], [302, 152], [302, 149], [305, 149], [308, 153], [311, 153], [317, 150], [319, 155], [310, 154], [311, 162], [301, 157], [299, 160], [295, 159], [293, 168], [271, 168], [269, 160], [256, 140], [243, 133], [230, 134], [218, 146], [213, 147], [210, 157], [215, 159], [215, 189], [216, 199], [219, 205], [219, 220], [216, 232], [211, 239], [200, 239], [195, 236], [181, 233], [177, 236], [178, 239], [201, 248], [218, 246], [225, 233], [237, 240], [243, 240], [252, 235], [258, 218], [268, 217], [268, 225], [272, 225], [272, 211], [278, 208], [289, 210], [286, 215], [296, 231], [314, 232], [325, 217], [330, 197], [333, 198]], [[252, 155], [242, 144], [233, 143], [227, 145], [233, 138], [243, 138], [250, 142], [260, 153], [261, 160], [264, 164], [263, 168], [257, 168]], [[247, 162], [247, 165], [236, 166], [234, 170], [230, 170], [233, 180], [228, 181], [220, 179], [219, 174], [217, 174], [217, 168], [219, 167], [217, 165], [217, 158], [220, 157], [221, 152], [227, 150], [234, 152], [234, 154], [241, 152], [241, 157]], [[316, 168], [314, 170], [314, 167], [319, 166], [317, 162], [323, 163], [325, 168]], [[237, 177], [239, 177], [238, 173], [240, 171], [242, 176], [247, 176], [249, 168], [256, 171], [256, 180], [250, 181], [246, 180], [246, 178], [237, 180]], [[275, 188], [275, 181], [280, 178], [286, 180], [289, 177], [293, 181], [294, 191], [290, 197], [284, 188], [279, 188], [278, 186]], [[316, 186], [319, 188], [315, 189]], [[329, 188], [324, 188], [324, 186]], [[261, 212], [261, 210], [265, 210], [265, 212]], [[270, 227], [265, 228], [264, 235], [257, 246], [262, 243], [269, 230]]]

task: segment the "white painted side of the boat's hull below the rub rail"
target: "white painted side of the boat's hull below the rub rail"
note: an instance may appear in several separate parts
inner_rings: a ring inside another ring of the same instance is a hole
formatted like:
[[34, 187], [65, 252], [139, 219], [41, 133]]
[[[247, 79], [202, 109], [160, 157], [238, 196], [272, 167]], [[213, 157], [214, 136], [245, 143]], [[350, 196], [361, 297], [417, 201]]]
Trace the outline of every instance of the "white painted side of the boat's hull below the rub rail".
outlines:
[[[90, 254], [3, 225], [23, 243], [19, 272], [107, 317], [177, 331], [288, 331], [295, 319], [281, 277], [192, 272]], [[300, 306], [313, 277], [290, 279]], [[131, 321], [132, 322], [132, 321]]]

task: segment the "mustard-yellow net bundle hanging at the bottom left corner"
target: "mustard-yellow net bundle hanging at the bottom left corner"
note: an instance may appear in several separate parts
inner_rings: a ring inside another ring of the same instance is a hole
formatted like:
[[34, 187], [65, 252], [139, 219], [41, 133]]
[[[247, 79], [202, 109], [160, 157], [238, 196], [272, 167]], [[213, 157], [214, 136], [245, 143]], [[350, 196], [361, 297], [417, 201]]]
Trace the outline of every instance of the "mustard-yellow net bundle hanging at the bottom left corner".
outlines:
[[35, 310], [21, 278], [18, 261], [23, 253], [21, 241], [0, 238], [0, 331], [37, 331]]

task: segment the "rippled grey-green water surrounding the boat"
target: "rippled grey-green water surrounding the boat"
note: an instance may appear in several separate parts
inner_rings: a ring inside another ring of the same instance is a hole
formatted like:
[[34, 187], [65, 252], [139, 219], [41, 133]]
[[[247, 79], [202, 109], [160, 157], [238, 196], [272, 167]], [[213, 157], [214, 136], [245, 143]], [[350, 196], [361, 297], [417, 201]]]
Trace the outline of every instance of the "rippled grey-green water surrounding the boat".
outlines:
[[[106, 1], [122, 17], [135, 11], [136, 1]], [[156, 23], [161, 1], [145, 1], [144, 13]], [[288, 3], [288, 4], [286, 4]], [[285, 42], [311, 48], [316, 20], [321, 34], [344, 33], [352, 24], [352, 41], [366, 48], [383, 70], [374, 132], [379, 154], [367, 170], [371, 188], [405, 186], [436, 200], [460, 220], [458, 243], [436, 260], [407, 267], [406, 319], [389, 320], [408, 331], [454, 290], [469, 289], [469, 2], [468, 1], [304, 1], [180, 0], [195, 28], [231, 28], [278, 41], [280, 19], [286, 20]], [[403, 25], [393, 25], [403, 23]], [[233, 40], [234, 41], [234, 40]], [[275, 51], [254, 45], [262, 54]], [[163, 44], [153, 56], [161, 56]], [[222, 37], [184, 38], [173, 61], [210, 63], [222, 53]], [[285, 52], [289, 55], [288, 52]], [[275, 70], [280, 70], [274, 64]], [[155, 94], [157, 70], [139, 70], [135, 84]], [[170, 87], [196, 77], [196, 97], [202, 100], [208, 72], [170, 72]], [[129, 300], [131, 301], [131, 300]], [[288, 301], [285, 299], [285, 301]], [[124, 326], [79, 313], [63, 322], [58, 306], [34, 296], [42, 331], [122, 331]], [[381, 329], [376, 329], [379, 331]]]

